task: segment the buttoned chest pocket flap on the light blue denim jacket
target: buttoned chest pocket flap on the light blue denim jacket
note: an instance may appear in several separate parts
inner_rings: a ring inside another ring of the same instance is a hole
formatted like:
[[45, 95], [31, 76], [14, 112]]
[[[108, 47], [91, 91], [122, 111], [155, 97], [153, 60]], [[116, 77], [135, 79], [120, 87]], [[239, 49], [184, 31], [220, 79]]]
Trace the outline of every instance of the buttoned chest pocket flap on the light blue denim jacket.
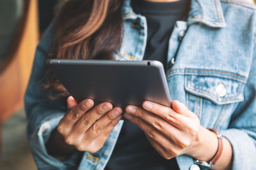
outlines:
[[244, 100], [246, 78], [219, 70], [186, 69], [185, 90], [215, 104], [230, 104]]

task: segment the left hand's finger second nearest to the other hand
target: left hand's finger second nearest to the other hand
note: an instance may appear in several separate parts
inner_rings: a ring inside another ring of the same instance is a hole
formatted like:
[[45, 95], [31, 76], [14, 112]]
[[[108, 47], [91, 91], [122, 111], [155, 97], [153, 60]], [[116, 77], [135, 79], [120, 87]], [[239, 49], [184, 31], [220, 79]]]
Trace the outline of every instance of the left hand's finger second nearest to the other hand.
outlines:
[[79, 118], [76, 124], [73, 126], [74, 131], [84, 133], [87, 131], [96, 120], [102, 117], [105, 113], [112, 110], [113, 106], [111, 103], [100, 103], [92, 110], [88, 111], [83, 117]]

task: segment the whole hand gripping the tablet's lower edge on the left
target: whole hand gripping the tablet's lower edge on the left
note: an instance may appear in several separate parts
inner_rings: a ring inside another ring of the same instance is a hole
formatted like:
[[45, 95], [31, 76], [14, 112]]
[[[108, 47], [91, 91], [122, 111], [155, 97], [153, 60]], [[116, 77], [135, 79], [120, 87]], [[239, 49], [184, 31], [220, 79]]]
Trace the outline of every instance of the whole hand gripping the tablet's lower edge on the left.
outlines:
[[65, 143], [83, 152], [95, 153], [100, 150], [122, 117], [122, 109], [113, 108], [108, 102], [92, 108], [92, 99], [77, 104], [72, 96], [68, 97], [67, 104], [68, 111], [57, 127]]

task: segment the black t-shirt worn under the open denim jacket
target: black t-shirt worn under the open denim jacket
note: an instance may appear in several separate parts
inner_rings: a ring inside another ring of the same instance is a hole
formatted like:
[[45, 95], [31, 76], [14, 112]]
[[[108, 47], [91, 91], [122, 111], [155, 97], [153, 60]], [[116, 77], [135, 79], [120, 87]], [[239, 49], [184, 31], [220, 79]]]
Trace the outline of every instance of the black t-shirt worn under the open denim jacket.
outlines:
[[[188, 15], [189, 0], [156, 3], [132, 0], [135, 13], [147, 19], [148, 37], [144, 59], [159, 60], [166, 66], [168, 40], [177, 20]], [[166, 160], [150, 145], [143, 131], [125, 120], [106, 170], [179, 169], [175, 159]]]

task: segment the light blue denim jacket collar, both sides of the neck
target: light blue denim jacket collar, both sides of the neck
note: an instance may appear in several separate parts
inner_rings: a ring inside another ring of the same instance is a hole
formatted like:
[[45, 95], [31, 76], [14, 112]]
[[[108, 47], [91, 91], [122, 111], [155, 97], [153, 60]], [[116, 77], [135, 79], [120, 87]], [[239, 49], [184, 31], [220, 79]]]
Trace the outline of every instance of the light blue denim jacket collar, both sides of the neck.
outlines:
[[[124, 1], [122, 15], [124, 20], [138, 18], [138, 15], [132, 10], [131, 0]], [[187, 24], [198, 22], [209, 27], [226, 27], [220, 0], [191, 0]]]

